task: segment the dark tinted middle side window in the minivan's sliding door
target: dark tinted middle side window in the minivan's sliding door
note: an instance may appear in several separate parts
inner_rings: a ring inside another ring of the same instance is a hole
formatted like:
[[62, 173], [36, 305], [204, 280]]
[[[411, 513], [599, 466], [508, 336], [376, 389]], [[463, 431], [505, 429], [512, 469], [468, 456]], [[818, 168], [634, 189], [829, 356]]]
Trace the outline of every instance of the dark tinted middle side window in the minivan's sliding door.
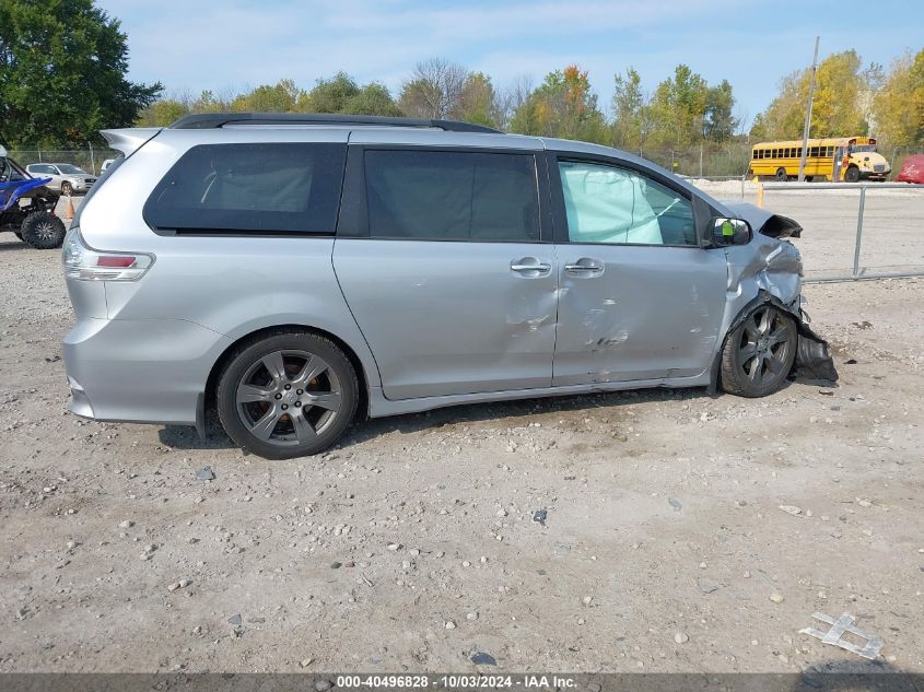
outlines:
[[533, 154], [366, 150], [364, 163], [371, 237], [539, 239]]

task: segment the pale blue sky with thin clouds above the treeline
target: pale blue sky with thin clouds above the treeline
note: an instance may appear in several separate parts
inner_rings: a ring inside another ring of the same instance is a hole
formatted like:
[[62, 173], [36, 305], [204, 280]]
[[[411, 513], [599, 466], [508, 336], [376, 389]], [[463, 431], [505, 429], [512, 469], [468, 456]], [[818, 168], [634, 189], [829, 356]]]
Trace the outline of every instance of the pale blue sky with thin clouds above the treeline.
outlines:
[[[732, 82], [753, 118], [784, 74], [856, 49], [888, 66], [924, 48], [924, 2], [852, 0], [97, 0], [128, 33], [130, 75], [167, 92], [239, 91], [291, 78], [309, 89], [346, 70], [397, 95], [414, 62], [442, 57], [496, 85], [577, 63], [608, 107], [627, 67], [647, 91], [686, 62]], [[805, 5], [805, 7], [804, 7]]]

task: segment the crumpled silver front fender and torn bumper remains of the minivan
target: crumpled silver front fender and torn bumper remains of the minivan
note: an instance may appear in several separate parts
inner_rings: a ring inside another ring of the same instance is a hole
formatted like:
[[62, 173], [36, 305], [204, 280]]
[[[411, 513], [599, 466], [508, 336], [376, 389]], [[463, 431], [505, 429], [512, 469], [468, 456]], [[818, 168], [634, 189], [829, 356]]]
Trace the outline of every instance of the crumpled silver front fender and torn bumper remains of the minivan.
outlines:
[[[798, 249], [783, 238], [799, 237], [802, 226], [792, 219], [781, 216], [752, 204], [726, 204], [739, 219], [747, 221], [755, 237], [747, 245], [725, 248], [728, 259], [728, 316], [725, 333], [732, 333], [755, 309], [765, 304], [790, 313], [796, 320], [798, 344], [791, 375], [806, 379], [838, 380], [838, 371], [828, 342], [818, 336], [803, 303], [803, 263]], [[721, 352], [721, 350], [720, 350]], [[713, 368], [710, 392], [718, 384], [718, 359]]]

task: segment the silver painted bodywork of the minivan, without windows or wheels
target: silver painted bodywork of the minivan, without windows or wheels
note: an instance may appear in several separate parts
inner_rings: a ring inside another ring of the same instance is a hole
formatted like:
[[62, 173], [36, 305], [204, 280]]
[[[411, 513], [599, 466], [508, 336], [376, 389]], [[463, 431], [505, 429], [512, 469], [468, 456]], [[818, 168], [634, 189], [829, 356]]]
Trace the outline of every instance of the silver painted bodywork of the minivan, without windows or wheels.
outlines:
[[[580, 142], [384, 127], [116, 130], [127, 159], [81, 210], [87, 245], [156, 255], [138, 282], [68, 281], [71, 410], [196, 424], [210, 374], [239, 339], [273, 327], [330, 333], [362, 367], [373, 417], [473, 401], [704, 386], [728, 327], [769, 293], [797, 313], [800, 261], [756, 234], [728, 248], [425, 243], [153, 233], [150, 190], [190, 146], [364, 142], [543, 148], [650, 162]], [[722, 203], [676, 184], [718, 210]], [[595, 275], [565, 269], [599, 260]], [[512, 265], [548, 263], [548, 272]], [[105, 284], [105, 285], [103, 285]]]

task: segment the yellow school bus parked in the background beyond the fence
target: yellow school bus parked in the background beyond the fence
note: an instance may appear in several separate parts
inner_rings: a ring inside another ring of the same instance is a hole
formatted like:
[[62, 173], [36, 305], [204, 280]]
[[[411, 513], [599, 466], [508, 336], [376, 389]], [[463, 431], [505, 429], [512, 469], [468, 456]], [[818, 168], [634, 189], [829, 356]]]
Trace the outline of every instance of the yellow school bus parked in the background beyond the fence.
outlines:
[[[790, 180], [799, 175], [802, 140], [760, 142], [751, 149], [748, 172], [756, 178]], [[872, 137], [831, 137], [808, 140], [806, 180], [885, 180], [889, 162], [876, 152]]]

